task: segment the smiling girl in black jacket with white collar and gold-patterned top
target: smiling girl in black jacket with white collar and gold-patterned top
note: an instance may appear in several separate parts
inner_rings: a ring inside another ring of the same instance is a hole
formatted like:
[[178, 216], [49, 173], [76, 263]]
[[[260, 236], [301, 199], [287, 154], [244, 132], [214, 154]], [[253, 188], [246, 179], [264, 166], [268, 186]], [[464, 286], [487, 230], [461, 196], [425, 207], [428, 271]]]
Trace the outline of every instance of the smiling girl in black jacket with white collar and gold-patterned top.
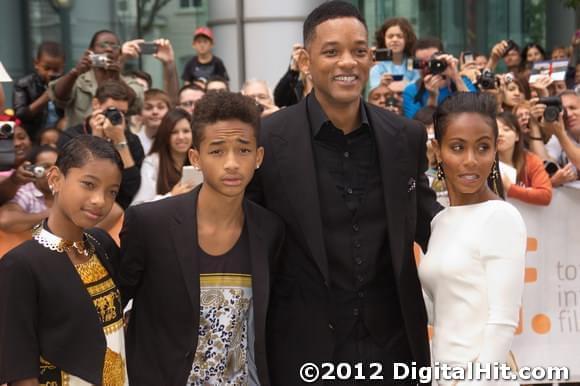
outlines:
[[0, 384], [127, 385], [117, 247], [87, 231], [111, 210], [123, 163], [102, 138], [71, 140], [48, 172], [54, 203], [0, 261]]

